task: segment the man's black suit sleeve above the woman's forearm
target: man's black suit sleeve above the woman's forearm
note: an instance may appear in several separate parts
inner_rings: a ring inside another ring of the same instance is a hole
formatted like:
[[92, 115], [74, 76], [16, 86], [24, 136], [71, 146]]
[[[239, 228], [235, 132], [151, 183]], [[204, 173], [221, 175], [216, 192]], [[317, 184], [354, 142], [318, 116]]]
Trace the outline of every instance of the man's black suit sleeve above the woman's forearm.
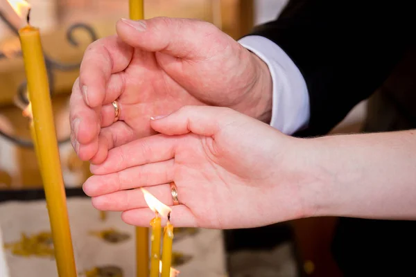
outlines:
[[300, 69], [309, 91], [309, 127], [327, 134], [372, 94], [400, 60], [413, 25], [411, 1], [289, 1], [275, 21], [257, 26]]

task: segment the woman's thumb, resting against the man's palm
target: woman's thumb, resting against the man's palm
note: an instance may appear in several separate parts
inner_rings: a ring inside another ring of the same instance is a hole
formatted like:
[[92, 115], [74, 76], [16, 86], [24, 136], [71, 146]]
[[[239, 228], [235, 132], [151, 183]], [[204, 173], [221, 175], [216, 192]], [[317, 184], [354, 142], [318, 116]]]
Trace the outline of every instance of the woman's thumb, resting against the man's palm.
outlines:
[[185, 106], [168, 116], [150, 118], [150, 126], [156, 132], [179, 135], [192, 132], [202, 136], [214, 136], [223, 127], [240, 118], [233, 109], [210, 106]]

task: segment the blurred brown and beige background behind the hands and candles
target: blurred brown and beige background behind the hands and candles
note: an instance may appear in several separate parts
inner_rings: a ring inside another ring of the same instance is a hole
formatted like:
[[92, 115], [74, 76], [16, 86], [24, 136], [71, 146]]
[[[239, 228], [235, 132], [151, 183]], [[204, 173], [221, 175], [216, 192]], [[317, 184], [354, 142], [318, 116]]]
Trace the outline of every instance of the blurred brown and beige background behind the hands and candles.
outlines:
[[[80, 190], [89, 177], [89, 164], [80, 161], [66, 141], [71, 87], [78, 76], [85, 48], [96, 38], [114, 34], [116, 20], [128, 17], [128, 1], [28, 2], [32, 6], [31, 23], [42, 30], [44, 53], [49, 62], [55, 123], [58, 139], [63, 141], [60, 158], [64, 182], [67, 188]], [[285, 3], [280, 0], [149, 0], [145, 1], [144, 10], [146, 18], [168, 16], [209, 21], [239, 39], [252, 26], [275, 19]], [[69, 33], [76, 44], [71, 44]], [[0, 21], [0, 195], [3, 195], [0, 205], [10, 199], [25, 199], [12, 193], [42, 190], [35, 153], [26, 146], [31, 136], [28, 118], [21, 114], [26, 103], [20, 91], [24, 66], [19, 50], [19, 38], [8, 22]], [[365, 114], [366, 105], [362, 102], [333, 133], [359, 132]], [[2, 217], [0, 214], [0, 224]], [[224, 241], [218, 242], [225, 251], [225, 271], [229, 276], [340, 276], [329, 246], [335, 223], [336, 218], [315, 218], [277, 224], [261, 231], [225, 232]]]

